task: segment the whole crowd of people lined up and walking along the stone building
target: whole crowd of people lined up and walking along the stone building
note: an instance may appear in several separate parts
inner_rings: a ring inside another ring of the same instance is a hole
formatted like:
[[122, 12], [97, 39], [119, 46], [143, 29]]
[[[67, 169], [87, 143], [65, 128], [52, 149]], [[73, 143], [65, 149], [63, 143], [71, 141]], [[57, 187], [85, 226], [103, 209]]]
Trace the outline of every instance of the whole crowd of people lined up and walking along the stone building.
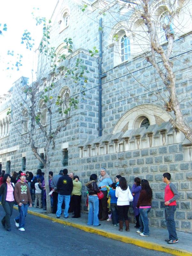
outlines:
[[[165, 218], [169, 238], [165, 241], [169, 244], [178, 242], [175, 229], [174, 212], [176, 210], [176, 199], [179, 193], [171, 183], [171, 175], [163, 174], [165, 187]], [[119, 226], [119, 231], [129, 232], [128, 211], [130, 202], [136, 220], [136, 232], [140, 236], [149, 236], [148, 213], [151, 210], [152, 189], [148, 180], [135, 177], [134, 184], [130, 190], [127, 180], [121, 175], [116, 175], [115, 182], [110, 178], [105, 168], [100, 169], [100, 175], [95, 173], [85, 184], [87, 188], [88, 221], [87, 225], [100, 226], [100, 221], [112, 220], [114, 227]], [[81, 194], [82, 183], [73, 172], [67, 169], [60, 170], [59, 174], [53, 176], [49, 172], [49, 196], [51, 198], [52, 213], [60, 218], [62, 211], [64, 218], [68, 218], [69, 212], [73, 212], [72, 218], [81, 217]], [[25, 231], [25, 217], [28, 206], [39, 207], [46, 210], [46, 190], [44, 173], [38, 169], [36, 175], [32, 172], [12, 172], [12, 175], [2, 171], [0, 173], [0, 198], [4, 208], [5, 216], [1, 220], [3, 227], [11, 231], [10, 218], [14, 203], [18, 205], [19, 216], [16, 217], [15, 225], [20, 231]]]

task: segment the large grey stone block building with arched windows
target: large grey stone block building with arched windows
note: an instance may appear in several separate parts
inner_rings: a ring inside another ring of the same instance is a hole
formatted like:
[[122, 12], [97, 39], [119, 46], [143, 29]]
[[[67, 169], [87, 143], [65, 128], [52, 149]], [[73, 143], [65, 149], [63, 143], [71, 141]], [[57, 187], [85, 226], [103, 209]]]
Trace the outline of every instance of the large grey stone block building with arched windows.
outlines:
[[[170, 172], [180, 192], [176, 226], [178, 230], [191, 232], [192, 144], [169, 122], [173, 115], [165, 111], [162, 100], [168, 99], [168, 91], [152, 65], [145, 60], [145, 54], [150, 50], [145, 27], [135, 11], [139, 7], [129, 2], [58, 1], [52, 15], [50, 34], [56, 59], [66, 53], [63, 40], [71, 37], [74, 49], [67, 56], [68, 66], [73, 66], [76, 59], [80, 58], [89, 73], [86, 95], [83, 97], [79, 94], [78, 110], [71, 113], [66, 129], [57, 135], [55, 148], [50, 149], [51, 170], [57, 173], [63, 166], [67, 166], [68, 170], [80, 177], [83, 185], [90, 174], [99, 174], [100, 167], [105, 167], [113, 179], [115, 175], [121, 174], [130, 187], [135, 177], [147, 179], [153, 189], [149, 223], [156, 227], [166, 226], [162, 174]], [[151, 1], [152, 15], [160, 24], [169, 20], [166, 2]], [[180, 108], [191, 126], [192, 40], [191, 16], [188, 13], [191, 1], [185, 6], [182, 5], [183, 1], [176, 2], [179, 14], [171, 24], [175, 34], [171, 59]], [[157, 27], [157, 33], [166, 47], [160, 27]], [[93, 47], [99, 50], [100, 56], [91, 56], [89, 50], [93, 51]], [[51, 68], [46, 65], [44, 68], [42, 88], [53, 81]], [[63, 77], [64, 73], [58, 68], [54, 79], [60, 81], [61, 97], [66, 96], [65, 93], [71, 97], [76, 91], [81, 91], [82, 84], [75, 88], [70, 79], [66, 82]], [[23, 83], [23, 80], [26, 81], [26, 78], [20, 78], [17, 83]], [[43, 169], [43, 166], [23, 143], [12, 123], [12, 119], [17, 119], [13, 111], [13, 95], [15, 100], [16, 94], [13, 86], [1, 98], [1, 168], [7, 172], [22, 168], [23, 171], [35, 173], [37, 168]], [[41, 104], [39, 106], [46, 124], [46, 109]], [[9, 109], [12, 113], [7, 115]], [[24, 122], [17, 127], [25, 135], [28, 127], [25, 110], [22, 116]], [[43, 155], [43, 138], [41, 143], [39, 153]], [[85, 210], [84, 186], [83, 193]], [[130, 214], [133, 221], [132, 209]]]

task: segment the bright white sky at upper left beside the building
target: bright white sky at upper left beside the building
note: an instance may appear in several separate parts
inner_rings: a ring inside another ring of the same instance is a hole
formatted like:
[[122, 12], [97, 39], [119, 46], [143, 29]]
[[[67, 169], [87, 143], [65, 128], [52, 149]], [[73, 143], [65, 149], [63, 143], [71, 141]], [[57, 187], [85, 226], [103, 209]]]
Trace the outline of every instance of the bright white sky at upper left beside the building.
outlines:
[[[57, 2], [58, 0], [6, 0], [1, 2], [0, 30], [6, 24], [7, 31], [3, 31], [3, 35], [0, 35], [0, 95], [6, 93], [21, 76], [29, 77], [30, 82], [31, 70], [36, 66], [34, 51], [38, 48], [42, 37], [42, 27], [36, 26], [36, 20], [31, 13], [34, 12], [36, 16], [46, 17], [49, 20]], [[35, 45], [31, 51], [26, 49], [25, 44], [21, 44], [21, 37], [26, 29], [35, 39]], [[13, 51], [13, 56], [8, 55], [8, 51]], [[19, 71], [12, 66], [17, 61], [16, 57], [19, 56], [17, 54], [23, 56], [23, 66]]]

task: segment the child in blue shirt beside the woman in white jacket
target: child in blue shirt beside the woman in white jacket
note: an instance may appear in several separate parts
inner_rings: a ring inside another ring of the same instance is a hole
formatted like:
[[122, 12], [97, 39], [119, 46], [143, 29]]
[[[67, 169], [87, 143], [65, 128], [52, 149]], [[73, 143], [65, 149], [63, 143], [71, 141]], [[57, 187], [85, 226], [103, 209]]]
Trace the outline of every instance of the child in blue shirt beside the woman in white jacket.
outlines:
[[118, 211], [117, 211], [117, 197], [115, 196], [116, 190], [116, 183], [111, 184], [111, 188], [109, 190], [108, 196], [110, 196], [110, 206], [111, 206], [111, 213], [112, 213], [112, 223], [113, 226], [116, 227], [118, 221]]

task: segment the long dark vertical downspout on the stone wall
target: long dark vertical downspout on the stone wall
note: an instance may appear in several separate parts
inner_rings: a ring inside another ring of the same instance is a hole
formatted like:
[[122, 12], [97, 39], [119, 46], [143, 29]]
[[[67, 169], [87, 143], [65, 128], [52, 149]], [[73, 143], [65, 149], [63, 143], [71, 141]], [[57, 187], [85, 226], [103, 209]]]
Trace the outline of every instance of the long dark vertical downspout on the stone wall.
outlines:
[[102, 47], [102, 36], [103, 36], [103, 31], [102, 31], [102, 18], [99, 20], [99, 47], [100, 47], [100, 58], [99, 58], [99, 137], [102, 136], [102, 81], [101, 81], [101, 74], [102, 74], [102, 59], [103, 59], [103, 47]]

